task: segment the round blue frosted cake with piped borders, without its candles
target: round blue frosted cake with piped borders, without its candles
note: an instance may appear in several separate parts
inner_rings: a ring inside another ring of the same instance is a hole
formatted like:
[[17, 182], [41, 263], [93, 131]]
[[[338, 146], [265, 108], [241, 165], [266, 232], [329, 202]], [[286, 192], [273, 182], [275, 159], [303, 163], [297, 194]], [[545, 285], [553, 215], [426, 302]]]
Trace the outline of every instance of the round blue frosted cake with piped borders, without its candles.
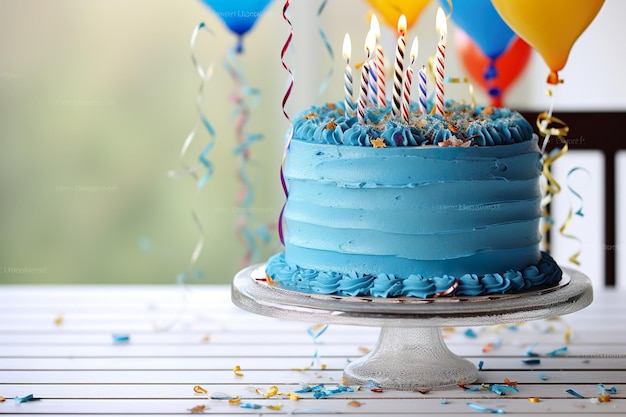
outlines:
[[294, 118], [284, 166], [284, 252], [267, 276], [337, 296], [518, 293], [558, 283], [540, 249], [541, 152], [509, 109], [448, 102], [409, 123], [365, 123], [342, 102]]

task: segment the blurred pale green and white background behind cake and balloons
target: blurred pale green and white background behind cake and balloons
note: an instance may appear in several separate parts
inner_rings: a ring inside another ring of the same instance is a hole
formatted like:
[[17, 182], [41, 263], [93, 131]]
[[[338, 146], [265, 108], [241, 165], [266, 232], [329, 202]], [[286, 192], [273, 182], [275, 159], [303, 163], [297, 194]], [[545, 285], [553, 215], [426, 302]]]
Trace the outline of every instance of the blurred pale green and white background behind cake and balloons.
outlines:
[[[343, 97], [346, 32], [352, 62], [363, 59], [371, 12], [366, 1], [328, 1], [320, 14], [323, 3], [295, 0], [289, 10], [294, 39], [285, 61], [296, 81], [289, 115]], [[409, 30], [408, 39], [419, 36], [420, 65], [434, 53], [438, 4], [433, 0]], [[562, 72], [567, 82], [559, 87], [557, 110], [626, 108], [626, 96], [614, 94], [625, 88], [623, 65], [607, 41], [623, 38], [617, 19], [624, 4], [607, 0], [577, 41]], [[255, 234], [249, 262], [281, 250], [274, 226], [284, 201], [278, 175], [289, 126], [281, 107], [289, 77], [280, 56], [290, 33], [283, 6], [270, 3], [245, 37], [244, 52], [231, 59], [235, 36], [200, 1], [0, 0], [0, 283], [169, 284], [180, 274], [188, 282], [229, 283], [251, 247], [238, 233], [242, 219], [253, 233], [270, 233], [268, 242]], [[168, 176], [197, 164], [210, 140], [199, 128], [181, 161], [183, 142], [198, 120], [200, 78], [190, 38], [200, 22], [213, 33], [201, 31], [194, 51], [201, 66], [214, 63], [201, 103], [216, 132], [207, 155], [215, 171], [202, 188], [190, 176]], [[453, 77], [464, 75], [454, 30], [450, 25], [446, 55]], [[383, 27], [381, 42], [389, 61], [395, 29]], [[258, 89], [258, 96], [238, 89], [227, 62], [243, 71], [244, 84]], [[534, 53], [506, 104], [546, 110], [546, 75]], [[467, 98], [467, 86], [449, 85], [446, 94]], [[245, 209], [242, 162], [234, 153], [235, 97], [249, 106], [245, 133], [263, 135], [245, 163], [254, 192]], [[476, 98], [486, 103], [483, 92], [476, 91]], [[200, 236], [192, 211], [204, 247], [190, 265]]]

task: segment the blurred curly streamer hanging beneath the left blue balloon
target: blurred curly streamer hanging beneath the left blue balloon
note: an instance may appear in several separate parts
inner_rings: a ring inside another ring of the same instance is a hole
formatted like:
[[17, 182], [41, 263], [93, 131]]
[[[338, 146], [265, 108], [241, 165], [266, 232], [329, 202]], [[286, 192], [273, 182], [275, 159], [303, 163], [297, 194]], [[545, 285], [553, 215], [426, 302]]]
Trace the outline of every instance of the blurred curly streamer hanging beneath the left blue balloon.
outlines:
[[237, 146], [234, 149], [234, 153], [238, 157], [239, 167], [237, 175], [241, 183], [237, 194], [237, 207], [240, 211], [240, 216], [236, 222], [236, 229], [240, 242], [246, 248], [241, 260], [241, 266], [246, 266], [249, 265], [252, 260], [260, 257], [254, 234], [249, 229], [252, 217], [251, 205], [254, 201], [254, 187], [248, 174], [248, 166], [250, 161], [250, 147], [254, 142], [261, 140], [263, 135], [245, 132], [246, 124], [250, 119], [250, 106], [248, 105], [247, 99], [251, 99], [252, 105], [255, 105], [260, 97], [260, 92], [258, 89], [250, 88], [246, 85], [243, 70], [238, 63], [235, 52], [236, 51], [233, 50], [229, 52], [225, 67], [235, 85], [234, 93], [231, 96], [232, 101], [237, 106], [235, 109], [235, 137], [237, 139]]

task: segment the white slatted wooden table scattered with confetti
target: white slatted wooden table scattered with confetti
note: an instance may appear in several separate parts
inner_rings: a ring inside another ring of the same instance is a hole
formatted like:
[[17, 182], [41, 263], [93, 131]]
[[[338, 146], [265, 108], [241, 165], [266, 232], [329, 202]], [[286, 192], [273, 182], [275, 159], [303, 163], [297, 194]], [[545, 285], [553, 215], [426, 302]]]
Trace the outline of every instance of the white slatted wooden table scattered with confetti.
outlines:
[[242, 311], [227, 286], [2, 286], [0, 414], [626, 415], [624, 294], [596, 288], [555, 320], [444, 329], [480, 380], [424, 393], [342, 391], [379, 329], [322, 328]]

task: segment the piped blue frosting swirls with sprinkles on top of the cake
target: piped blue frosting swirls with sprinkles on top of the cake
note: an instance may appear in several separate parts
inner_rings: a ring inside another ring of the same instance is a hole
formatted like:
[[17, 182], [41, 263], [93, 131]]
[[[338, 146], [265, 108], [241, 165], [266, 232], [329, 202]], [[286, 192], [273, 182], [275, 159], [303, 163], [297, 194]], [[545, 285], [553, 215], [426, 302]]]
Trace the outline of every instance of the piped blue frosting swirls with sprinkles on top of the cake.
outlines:
[[508, 108], [448, 101], [445, 115], [420, 114], [411, 103], [409, 122], [393, 116], [391, 106], [365, 110], [365, 123], [348, 116], [343, 101], [312, 106], [294, 118], [293, 139], [320, 144], [366, 147], [496, 146], [528, 141], [531, 124]]

